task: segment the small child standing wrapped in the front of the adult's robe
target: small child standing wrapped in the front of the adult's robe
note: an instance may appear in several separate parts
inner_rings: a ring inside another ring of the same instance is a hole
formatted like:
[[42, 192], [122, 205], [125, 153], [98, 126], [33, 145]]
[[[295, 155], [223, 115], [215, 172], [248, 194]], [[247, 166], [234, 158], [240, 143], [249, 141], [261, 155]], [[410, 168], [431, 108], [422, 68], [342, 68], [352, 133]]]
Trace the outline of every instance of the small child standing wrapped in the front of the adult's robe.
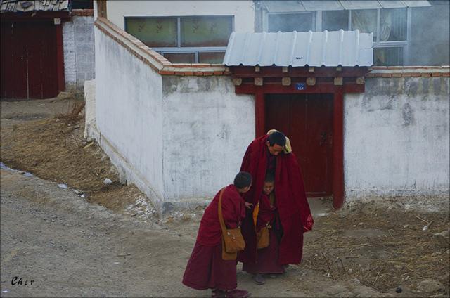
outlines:
[[278, 264], [278, 246], [283, 231], [277, 216], [274, 194], [274, 176], [266, 174], [259, 203], [253, 209], [255, 229], [257, 232], [269, 224], [269, 247], [257, 250], [256, 263], [244, 263], [242, 270], [253, 274], [253, 281], [257, 285], [266, 283], [263, 274], [275, 278], [277, 274], [285, 273], [284, 266]]

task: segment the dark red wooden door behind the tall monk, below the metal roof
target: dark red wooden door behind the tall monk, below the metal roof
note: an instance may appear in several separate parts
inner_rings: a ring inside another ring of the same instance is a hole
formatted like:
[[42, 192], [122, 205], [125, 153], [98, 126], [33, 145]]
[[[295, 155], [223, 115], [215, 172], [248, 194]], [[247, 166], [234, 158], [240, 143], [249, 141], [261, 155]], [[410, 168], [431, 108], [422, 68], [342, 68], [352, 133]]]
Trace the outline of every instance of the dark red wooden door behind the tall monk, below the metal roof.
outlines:
[[290, 138], [309, 197], [333, 193], [333, 95], [266, 95], [266, 131]]

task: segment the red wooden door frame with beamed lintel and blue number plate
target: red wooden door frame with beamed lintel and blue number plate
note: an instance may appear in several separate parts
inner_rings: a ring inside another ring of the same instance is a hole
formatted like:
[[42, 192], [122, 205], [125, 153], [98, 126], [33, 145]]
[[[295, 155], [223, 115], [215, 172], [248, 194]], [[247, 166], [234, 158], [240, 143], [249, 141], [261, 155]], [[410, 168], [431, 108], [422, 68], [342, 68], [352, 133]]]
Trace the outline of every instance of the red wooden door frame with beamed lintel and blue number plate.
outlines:
[[[333, 93], [333, 207], [335, 209], [342, 207], [345, 200], [344, 94], [364, 93], [364, 75], [368, 72], [368, 67], [319, 67], [316, 72], [314, 67], [230, 68], [236, 94], [255, 96], [256, 137], [266, 134], [264, 131], [266, 94]], [[289, 84], [285, 83], [283, 79], [285, 77], [289, 77]], [[307, 84], [311, 77], [314, 77], [314, 85]], [[295, 82], [303, 83], [306, 88], [297, 90]]]

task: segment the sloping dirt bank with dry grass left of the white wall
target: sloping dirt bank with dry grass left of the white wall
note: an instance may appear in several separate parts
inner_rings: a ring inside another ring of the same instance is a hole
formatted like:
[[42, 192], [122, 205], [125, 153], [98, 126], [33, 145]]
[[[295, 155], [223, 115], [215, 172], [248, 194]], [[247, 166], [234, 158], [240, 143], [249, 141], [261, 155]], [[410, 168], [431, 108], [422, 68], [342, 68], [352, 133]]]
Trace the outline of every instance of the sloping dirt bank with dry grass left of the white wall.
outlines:
[[[135, 186], [120, 184], [98, 145], [84, 138], [84, 117], [68, 115], [83, 98], [1, 102], [1, 162], [84, 193], [88, 202], [140, 217], [157, 214]], [[81, 115], [82, 116], [82, 115]], [[112, 183], [105, 185], [103, 181]], [[134, 207], [130, 205], [138, 204]]]

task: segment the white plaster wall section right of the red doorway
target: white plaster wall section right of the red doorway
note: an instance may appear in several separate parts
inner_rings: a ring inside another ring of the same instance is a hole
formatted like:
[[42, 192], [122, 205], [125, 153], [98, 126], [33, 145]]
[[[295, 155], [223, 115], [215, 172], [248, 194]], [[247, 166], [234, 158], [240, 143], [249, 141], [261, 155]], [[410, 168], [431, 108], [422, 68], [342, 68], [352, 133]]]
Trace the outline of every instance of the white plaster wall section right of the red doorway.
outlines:
[[344, 151], [348, 198], [448, 194], [449, 79], [367, 79], [345, 96]]

